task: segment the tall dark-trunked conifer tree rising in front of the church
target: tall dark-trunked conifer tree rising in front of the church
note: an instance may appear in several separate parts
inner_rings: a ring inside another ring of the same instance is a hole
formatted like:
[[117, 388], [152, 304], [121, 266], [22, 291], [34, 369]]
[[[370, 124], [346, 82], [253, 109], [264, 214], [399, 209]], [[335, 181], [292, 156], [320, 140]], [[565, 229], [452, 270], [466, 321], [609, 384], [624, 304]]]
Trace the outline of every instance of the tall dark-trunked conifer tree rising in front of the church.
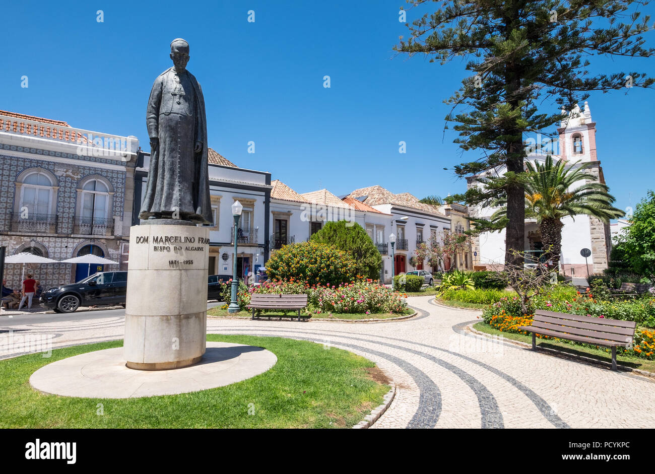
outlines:
[[[593, 55], [650, 57], [641, 34], [652, 29], [639, 1], [436, 1], [406, 0], [411, 8], [434, 1], [441, 8], [409, 27], [407, 41], [394, 46], [410, 56], [432, 56], [441, 64], [464, 57], [473, 75], [446, 103], [446, 122], [456, 122], [455, 139], [463, 151], [481, 158], [455, 166], [460, 176], [478, 175], [505, 166], [502, 175], [478, 177], [482, 187], [451, 196], [470, 206], [507, 202], [506, 264], [523, 263], [526, 179], [523, 139], [569, 116], [589, 92], [628, 87], [652, 88], [644, 74], [589, 75]], [[635, 5], [633, 5], [635, 4]], [[633, 8], [634, 7], [634, 8]], [[629, 11], [629, 10], [633, 11]], [[617, 22], [624, 16], [627, 23]], [[618, 23], [618, 24], [617, 24]], [[539, 113], [537, 103], [550, 99], [561, 113]], [[455, 115], [455, 109], [464, 111]], [[546, 134], [547, 136], [549, 134]], [[554, 135], [554, 134], [553, 134]], [[476, 232], [497, 230], [475, 222]]]

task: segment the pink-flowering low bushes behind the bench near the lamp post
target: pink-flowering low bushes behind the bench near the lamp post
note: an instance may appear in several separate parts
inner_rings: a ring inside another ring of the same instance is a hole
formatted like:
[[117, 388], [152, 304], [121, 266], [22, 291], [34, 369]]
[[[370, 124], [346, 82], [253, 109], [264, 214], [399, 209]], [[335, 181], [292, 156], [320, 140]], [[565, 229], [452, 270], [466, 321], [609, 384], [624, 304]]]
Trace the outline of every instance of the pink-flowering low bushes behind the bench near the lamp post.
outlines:
[[307, 310], [321, 313], [398, 313], [407, 308], [405, 298], [373, 280], [341, 285], [308, 285], [298, 282], [265, 282], [252, 293], [307, 294]]

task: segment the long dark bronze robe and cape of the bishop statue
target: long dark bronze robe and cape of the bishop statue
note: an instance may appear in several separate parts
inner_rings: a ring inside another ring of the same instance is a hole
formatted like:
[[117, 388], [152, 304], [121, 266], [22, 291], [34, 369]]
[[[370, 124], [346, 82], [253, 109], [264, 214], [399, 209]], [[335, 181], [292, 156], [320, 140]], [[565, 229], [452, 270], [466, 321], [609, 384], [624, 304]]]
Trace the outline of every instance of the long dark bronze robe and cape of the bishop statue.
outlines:
[[[157, 77], [148, 100], [148, 134], [159, 139], [151, 152], [140, 219], [212, 223], [207, 169], [207, 120], [202, 89], [189, 71], [175, 67]], [[195, 143], [202, 150], [194, 151]]]

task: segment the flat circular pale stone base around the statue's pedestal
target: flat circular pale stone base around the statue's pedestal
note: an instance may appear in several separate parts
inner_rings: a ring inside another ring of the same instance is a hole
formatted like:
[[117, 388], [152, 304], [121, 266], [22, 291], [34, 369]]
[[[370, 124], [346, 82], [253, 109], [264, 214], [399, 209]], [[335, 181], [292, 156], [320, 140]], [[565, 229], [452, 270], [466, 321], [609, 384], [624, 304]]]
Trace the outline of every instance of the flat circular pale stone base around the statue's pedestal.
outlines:
[[139, 398], [198, 392], [266, 372], [278, 360], [261, 347], [207, 342], [202, 360], [181, 369], [140, 371], [126, 367], [122, 347], [67, 357], [37, 370], [33, 388], [65, 397]]

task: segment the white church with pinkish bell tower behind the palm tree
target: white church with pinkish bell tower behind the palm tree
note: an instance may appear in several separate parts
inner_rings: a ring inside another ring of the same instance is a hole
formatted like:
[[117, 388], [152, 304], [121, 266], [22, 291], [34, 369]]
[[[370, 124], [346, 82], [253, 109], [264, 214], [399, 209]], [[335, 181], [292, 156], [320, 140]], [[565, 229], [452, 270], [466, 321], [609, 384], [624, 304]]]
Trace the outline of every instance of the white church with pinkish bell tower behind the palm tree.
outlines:
[[[544, 141], [540, 143], [534, 139], [528, 140], [529, 154], [525, 158], [532, 162], [544, 162], [547, 155], [566, 162], [591, 163], [587, 172], [596, 176], [601, 183], [605, 183], [603, 168], [596, 154], [596, 124], [591, 119], [589, 104], [584, 103], [584, 110], [576, 105], [568, 119], [562, 120], [557, 129], [559, 141]], [[506, 170], [497, 168], [493, 173], [502, 175]], [[489, 172], [487, 172], [489, 173]], [[480, 186], [476, 177], [467, 178], [468, 187]], [[576, 183], [578, 187], [582, 183]], [[488, 219], [496, 208], [471, 207], [470, 215], [475, 218]], [[610, 225], [595, 217], [576, 215], [562, 219], [562, 250], [560, 269], [565, 275], [587, 276], [601, 272], [607, 268], [611, 250]], [[582, 257], [582, 249], [590, 249], [591, 255], [587, 262]], [[538, 257], [542, 249], [541, 234], [534, 219], [525, 220], [525, 251], [527, 258]], [[494, 266], [504, 262], [505, 230], [500, 232], [483, 232], [474, 239], [474, 265]]]

